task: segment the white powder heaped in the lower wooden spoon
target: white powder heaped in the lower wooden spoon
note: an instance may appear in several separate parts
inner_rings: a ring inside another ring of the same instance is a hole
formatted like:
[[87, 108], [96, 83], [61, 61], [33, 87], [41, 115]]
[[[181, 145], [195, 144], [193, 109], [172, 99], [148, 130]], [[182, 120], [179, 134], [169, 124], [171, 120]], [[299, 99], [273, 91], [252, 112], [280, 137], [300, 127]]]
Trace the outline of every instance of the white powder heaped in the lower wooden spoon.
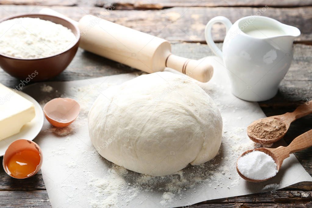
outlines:
[[240, 157], [237, 167], [241, 174], [253, 180], [271, 178], [277, 173], [273, 158], [260, 151], [252, 151]]

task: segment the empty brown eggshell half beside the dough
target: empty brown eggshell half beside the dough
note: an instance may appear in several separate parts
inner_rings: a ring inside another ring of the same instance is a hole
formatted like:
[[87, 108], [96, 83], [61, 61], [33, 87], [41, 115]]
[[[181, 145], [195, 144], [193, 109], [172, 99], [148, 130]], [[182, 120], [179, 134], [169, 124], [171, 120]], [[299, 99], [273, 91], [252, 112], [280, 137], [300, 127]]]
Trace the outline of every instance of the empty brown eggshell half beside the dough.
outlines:
[[46, 119], [55, 127], [66, 127], [77, 118], [79, 103], [71, 98], [55, 98], [43, 107]]

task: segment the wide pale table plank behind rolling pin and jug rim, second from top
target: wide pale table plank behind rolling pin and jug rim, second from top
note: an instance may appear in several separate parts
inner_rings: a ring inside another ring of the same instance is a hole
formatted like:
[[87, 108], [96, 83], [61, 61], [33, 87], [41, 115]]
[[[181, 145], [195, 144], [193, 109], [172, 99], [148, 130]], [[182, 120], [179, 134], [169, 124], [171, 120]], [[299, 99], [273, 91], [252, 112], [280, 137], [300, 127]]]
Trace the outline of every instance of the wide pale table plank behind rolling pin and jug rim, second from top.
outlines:
[[[16, 13], [38, 12], [43, 6], [2, 5], [0, 17]], [[68, 17], [79, 20], [86, 14], [100, 16], [126, 27], [155, 35], [169, 41], [205, 43], [204, 29], [216, 16], [228, 17], [235, 22], [241, 17], [261, 14], [280, 22], [298, 27], [301, 36], [295, 41], [312, 43], [312, 7], [298, 8], [251, 8], [251, 7], [173, 7], [164, 10], [110, 10], [100, 7], [51, 7]], [[212, 30], [215, 41], [225, 36], [224, 26], [216, 24]]]

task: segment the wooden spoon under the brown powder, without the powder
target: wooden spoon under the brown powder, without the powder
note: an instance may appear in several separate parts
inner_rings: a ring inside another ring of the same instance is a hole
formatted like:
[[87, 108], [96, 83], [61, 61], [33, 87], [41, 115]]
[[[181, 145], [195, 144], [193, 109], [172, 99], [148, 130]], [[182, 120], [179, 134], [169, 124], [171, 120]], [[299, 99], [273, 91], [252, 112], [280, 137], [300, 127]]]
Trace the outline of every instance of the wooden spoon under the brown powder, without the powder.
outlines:
[[[291, 112], [291, 113], [285, 113], [285, 114], [282, 114], [282, 115], [276, 115], [276, 116], [270, 116], [270, 117], [267, 117], [267, 118], [264, 118], [264, 119], [268, 119], [268, 118], [273, 118], [273, 119], [277, 119], [277, 120], [280, 120], [281, 122], [283, 122], [285, 124], [285, 131], [283, 132], [283, 134], [278, 137], [278, 138], [266, 138], [266, 139], [261, 139], [261, 138], [258, 138], [258, 137], [255, 137], [253, 136], [251, 133], [251, 131], [247, 128], [247, 135], [248, 137], [256, 142], [256, 143], [260, 143], [260, 144], [272, 144], [272, 143], [275, 143], [277, 142], [278, 140], [280, 140], [281, 138], [284, 137], [284, 135], [286, 134], [286, 132], [288, 131], [288, 128], [290, 126], [290, 123], [292, 123], [293, 121], [295, 121], [296, 119], [300, 119], [301, 117], [304, 117], [306, 115], [309, 115], [312, 113], [312, 104], [302, 104], [300, 105], [298, 108], [295, 109], [294, 112]], [[251, 123], [249, 126], [251, 125], [254, 125], [256, 123], [259, 123], [261, 121], [264, 121], [264, 119], [258, 119], [256, 121], [254, 121], [253, 123]]]

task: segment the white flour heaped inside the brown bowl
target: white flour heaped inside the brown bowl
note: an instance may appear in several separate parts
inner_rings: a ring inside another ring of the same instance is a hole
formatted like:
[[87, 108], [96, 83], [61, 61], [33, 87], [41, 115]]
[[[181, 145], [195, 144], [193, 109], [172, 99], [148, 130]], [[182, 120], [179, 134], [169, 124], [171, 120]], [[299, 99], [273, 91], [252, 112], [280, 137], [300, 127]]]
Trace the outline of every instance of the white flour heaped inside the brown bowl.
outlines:
[[0, 53], [23, 59], [57, 55], [76, 40], [70, 29], [39, 18], [14, 18], [0, 23]]

